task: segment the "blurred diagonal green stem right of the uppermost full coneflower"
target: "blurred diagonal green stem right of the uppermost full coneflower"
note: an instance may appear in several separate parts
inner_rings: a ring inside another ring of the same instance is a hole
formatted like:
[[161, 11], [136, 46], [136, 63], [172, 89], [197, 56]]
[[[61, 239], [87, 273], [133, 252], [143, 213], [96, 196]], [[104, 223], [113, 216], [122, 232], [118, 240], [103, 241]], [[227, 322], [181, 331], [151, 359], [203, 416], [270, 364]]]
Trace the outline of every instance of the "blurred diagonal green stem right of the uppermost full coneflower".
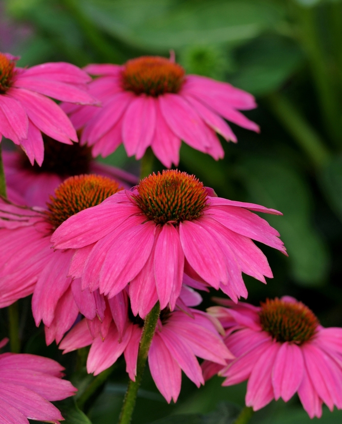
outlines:
[[301, 115], [299, 110], [285, 96], [275, 93], [268, 97], [272, 111], [281, 124], [297, 141], [316, 168], [321, 168], [329, 160], [330, 152], [320, 135]]

